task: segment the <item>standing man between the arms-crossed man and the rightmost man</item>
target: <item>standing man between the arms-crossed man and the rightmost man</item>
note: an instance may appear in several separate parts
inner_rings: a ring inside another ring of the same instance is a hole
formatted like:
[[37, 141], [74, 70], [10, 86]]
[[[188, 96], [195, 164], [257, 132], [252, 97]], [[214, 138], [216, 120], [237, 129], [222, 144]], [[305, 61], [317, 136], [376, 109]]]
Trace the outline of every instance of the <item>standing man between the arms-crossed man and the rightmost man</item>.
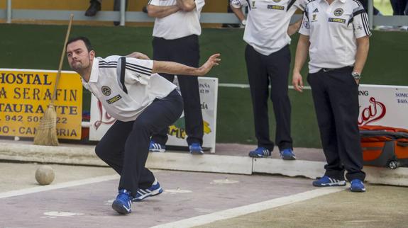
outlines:
[[[268, 93], [273, 103], [276, 132], [275, 143], [280, 156], [294, 160], [290, 134], [291, 107], [287, 95], [290, 67], [290, 35], [299, 28], [301, 20], [289, 26], [297, 8], [304, 10], [306, 0], [231, 0], [233, 8], [248, 6], [243, 40], [250, 95], [253, 104], [255, 137], [258, 148], [249, 152], [252, 157], [268, 157], [275, 144], [269, 136]], [[289, 27], [289, 28], [288, 28]]]

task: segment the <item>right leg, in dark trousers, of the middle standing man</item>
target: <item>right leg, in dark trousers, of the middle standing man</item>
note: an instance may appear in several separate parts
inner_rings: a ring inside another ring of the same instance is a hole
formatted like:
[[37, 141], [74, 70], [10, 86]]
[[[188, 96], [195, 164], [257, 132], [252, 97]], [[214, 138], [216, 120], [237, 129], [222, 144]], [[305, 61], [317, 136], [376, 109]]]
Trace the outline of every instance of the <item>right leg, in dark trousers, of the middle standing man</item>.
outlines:
[[293, 149], [290, 135], [291, 106], [287, 94], [290, 67], [289, 45], [272, 53], [265, 59], [268, 76], [270, 77], [270, 99], [272, 100], [276, 120], [275, 144], [282, 152], [284, 149]]

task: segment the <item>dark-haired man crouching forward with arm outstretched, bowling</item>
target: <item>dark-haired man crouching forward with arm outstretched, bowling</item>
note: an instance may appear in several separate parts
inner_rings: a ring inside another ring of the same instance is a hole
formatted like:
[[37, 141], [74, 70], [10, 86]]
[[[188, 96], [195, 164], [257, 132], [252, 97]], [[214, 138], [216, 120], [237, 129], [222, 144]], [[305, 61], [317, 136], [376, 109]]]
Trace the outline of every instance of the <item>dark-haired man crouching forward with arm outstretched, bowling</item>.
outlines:
[[218, 57], [212, 55], [199, 68], [152, 61], [138, 52], [103, 59], [95, 57], [87, 38], [67, 42], [70, 67], [82, 76], [84, 87], [101, 101], [106, 112], [116, 118], [95, 152], [121, 176], [112, 204], [117, 212], [128, 214], [132, 200], [162, 193], [153, 173], [145, 168], [150, 137], [180, 118], [183, 103], [176, 86], [155, 73], [203, 76], [218, 65]]

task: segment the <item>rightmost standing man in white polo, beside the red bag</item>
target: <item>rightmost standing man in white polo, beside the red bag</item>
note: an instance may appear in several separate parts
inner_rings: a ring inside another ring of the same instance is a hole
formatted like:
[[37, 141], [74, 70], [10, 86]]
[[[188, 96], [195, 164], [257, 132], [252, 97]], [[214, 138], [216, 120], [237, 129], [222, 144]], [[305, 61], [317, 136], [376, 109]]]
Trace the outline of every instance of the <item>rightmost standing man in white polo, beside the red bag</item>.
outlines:
[[326, 173], [314, 186], [345, 186], [363, 192], [365, 173], [358, 133], [358, 83], [368, 55], [367, 13], [356, 0], [316, 0], [307, 4], [297, 43], [292, 83], [302, 91], [300, 70], [309, 51], [307, 81], [326, 156]]

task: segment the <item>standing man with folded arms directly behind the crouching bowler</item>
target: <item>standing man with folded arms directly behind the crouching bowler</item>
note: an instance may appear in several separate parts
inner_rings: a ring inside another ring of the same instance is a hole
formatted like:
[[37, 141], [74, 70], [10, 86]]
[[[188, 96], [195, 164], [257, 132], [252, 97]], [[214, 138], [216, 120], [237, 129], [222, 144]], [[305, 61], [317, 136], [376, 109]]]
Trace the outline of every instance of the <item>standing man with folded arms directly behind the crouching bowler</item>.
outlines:
[[[150, 0], [148, 15], [155, 17], [153, 59], [180, 62], [190, 67], [199, 65], [200, 13], [204, 0]], [[161, 74], [173, 81], [174, 74]], [[197, 77], [177, 74], [184, 101], [187, 144], [191, 154], [204, 154], [202, 108]], [[153, 135], [150, 151], [165, 152], [167, 128]]]

